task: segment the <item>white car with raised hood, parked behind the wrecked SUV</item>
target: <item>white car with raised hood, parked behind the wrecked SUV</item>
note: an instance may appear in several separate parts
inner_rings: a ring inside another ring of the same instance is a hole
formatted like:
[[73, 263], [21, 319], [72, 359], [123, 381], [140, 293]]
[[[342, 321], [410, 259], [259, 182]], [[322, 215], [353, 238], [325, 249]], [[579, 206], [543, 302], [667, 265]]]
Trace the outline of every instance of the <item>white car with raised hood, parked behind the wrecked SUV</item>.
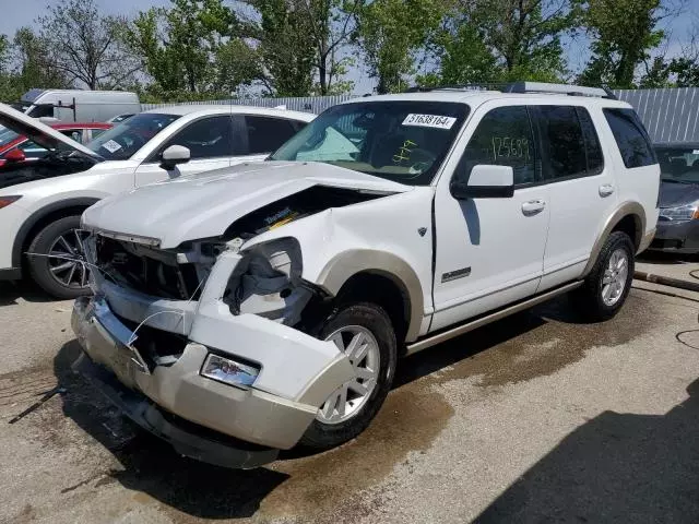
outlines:
[[313, 118], [246, 106], [175, 106], [133, 116], [85, 146], [0, 104], [0, 124], [51, 152], [0, 167], [0, 279], [31, 274], [55, 297], [84, 294], [78, 229], [85, 209], [152, 182], [264, 159]]

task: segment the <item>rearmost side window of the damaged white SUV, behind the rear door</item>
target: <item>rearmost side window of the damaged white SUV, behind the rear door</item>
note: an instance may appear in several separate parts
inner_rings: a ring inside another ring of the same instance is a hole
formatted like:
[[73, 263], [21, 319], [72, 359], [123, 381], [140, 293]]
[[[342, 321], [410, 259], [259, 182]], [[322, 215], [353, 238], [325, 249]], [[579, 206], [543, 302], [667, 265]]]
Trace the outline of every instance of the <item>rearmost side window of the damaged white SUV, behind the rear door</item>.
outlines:
[[657, 164], [648, 133], [633, 109], [604, 109], [627, 168]]

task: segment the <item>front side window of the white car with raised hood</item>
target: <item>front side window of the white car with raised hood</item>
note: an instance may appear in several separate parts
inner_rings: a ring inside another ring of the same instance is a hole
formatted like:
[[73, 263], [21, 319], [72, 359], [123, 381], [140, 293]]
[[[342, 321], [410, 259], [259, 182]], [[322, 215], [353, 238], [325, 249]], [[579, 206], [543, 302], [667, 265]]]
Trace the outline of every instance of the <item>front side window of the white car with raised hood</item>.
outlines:
[[233, 122], [230, 117], [209, 117], [197, 120], [161, 147], [161, 153], [170, 145], [189, 148], [191, 158], [216, 158], [233, 156]]

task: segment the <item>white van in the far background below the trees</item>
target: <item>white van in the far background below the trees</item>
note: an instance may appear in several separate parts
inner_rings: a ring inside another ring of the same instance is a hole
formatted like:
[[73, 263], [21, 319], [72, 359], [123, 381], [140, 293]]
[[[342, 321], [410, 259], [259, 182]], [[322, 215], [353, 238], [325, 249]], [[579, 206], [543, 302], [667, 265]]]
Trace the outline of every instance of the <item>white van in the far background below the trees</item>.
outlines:
[[29, 90], [13, 107], [29, 117], [61, 122], [106, 122], [141, 112], [139, 95], [126, 91]]

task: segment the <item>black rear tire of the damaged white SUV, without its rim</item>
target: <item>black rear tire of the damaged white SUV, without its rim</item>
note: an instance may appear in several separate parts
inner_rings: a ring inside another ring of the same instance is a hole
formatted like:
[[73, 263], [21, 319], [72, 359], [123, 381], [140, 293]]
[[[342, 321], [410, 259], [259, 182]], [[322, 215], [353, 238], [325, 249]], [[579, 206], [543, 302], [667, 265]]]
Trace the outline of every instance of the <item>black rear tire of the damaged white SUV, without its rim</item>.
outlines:
[[[626, 253], [628, 272], [621, 295], [613, 305], [608, 305], [603, 298], [605, 271], [607, 270], [612, 255], [619, 249]], [[614, 231], [609, 235], [583, 286], [576, 289], [572, 295], [576, 307], [584, 318], [593, 322], [599, 322], [608, 320], [619, 312], [631, 289], [635, 251], [633, 242], [626, 233]]]

